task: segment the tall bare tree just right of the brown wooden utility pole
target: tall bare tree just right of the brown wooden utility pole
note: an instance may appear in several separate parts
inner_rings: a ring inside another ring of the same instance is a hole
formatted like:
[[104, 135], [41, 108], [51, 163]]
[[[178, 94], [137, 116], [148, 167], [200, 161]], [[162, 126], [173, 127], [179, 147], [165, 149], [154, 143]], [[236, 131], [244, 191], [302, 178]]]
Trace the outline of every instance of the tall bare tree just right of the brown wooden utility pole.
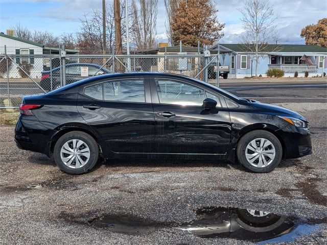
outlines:
[[156, 46], [158, 0], [132, 0], [132, 35], [138, 50]]

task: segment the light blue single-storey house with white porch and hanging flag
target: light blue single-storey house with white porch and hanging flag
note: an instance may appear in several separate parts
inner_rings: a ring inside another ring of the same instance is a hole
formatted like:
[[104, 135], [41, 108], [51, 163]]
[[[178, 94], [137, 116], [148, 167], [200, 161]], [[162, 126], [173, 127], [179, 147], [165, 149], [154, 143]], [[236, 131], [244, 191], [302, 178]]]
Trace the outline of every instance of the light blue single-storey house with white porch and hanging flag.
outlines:
[[[253, 47], [244, 44], [219, 44], [221, 51], [221, 65], [229, 65], [228, 78], [244, 78], [255, 75], [255, 54]], [[218, 50], [218, 44], [211, 48]], [[306, 59], [301, 59], [306, 57]], [[321, 76], [327, 68], [327, 48], [318, 45], [298, 44], [267, 44], [260, 53], [258, 61], [258, 76], [267, 76], [266, 72], [271, 68], [285, 71], [284, 77], [304, 77], [309, 72], [309, 77]]]

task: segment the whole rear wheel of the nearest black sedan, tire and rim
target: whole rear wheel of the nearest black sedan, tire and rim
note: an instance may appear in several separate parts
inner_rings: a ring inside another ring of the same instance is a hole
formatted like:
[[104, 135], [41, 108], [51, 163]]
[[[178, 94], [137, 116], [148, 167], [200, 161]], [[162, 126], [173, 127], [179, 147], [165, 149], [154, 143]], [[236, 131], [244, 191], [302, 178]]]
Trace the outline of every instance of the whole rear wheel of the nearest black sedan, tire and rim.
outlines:
[[87, 133], [72, 131], [58, 139], [53, 155], [62, 171], [71, 175], [80, 175], [87, 173], [96, 165], [99, 148], [96, 140]]

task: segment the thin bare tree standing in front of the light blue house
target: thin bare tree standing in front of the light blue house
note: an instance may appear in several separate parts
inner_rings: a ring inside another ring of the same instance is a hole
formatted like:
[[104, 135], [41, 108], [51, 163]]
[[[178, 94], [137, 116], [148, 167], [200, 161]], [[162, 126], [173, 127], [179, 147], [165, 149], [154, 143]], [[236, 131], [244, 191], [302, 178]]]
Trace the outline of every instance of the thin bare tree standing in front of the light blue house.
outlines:
[[[246, 30], [242, 38], [243, 49], [254, 53], [255, 76], [258, 76], [258, 64], [262, 55], [267, 52], [268, 43], [277, 39], [276, 16], [274, 8], [268, 0], [245, 0], [244, 7], [238, 9], [242, 15], [241, 21]], [[277, 51], [276, 45], [270, 52]]]

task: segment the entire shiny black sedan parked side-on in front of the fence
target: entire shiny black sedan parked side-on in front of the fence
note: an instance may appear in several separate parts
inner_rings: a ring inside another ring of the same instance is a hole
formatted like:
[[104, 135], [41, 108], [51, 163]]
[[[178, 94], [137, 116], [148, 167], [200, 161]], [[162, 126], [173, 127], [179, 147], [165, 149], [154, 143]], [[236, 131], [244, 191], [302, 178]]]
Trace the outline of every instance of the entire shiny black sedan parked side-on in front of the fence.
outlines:
[[189, 77], [108, 74], [25, 96], [18, 148], [54, 156], [69, 174], [99, 157], [239, 160], [267, 173], [282, 158], [311, 154], [308, 121]]

